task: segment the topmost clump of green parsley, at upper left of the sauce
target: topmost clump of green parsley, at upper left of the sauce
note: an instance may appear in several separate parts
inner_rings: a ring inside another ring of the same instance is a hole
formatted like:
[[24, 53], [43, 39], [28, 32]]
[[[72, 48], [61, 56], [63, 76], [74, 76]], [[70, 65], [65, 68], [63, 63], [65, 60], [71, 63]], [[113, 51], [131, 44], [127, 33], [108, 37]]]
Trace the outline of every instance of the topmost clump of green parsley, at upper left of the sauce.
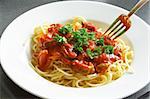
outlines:
[[73, 32], [73, 27], [70, 24], [67, 24], [59, 29], [59, 32], [62, 34], [67, 34]]

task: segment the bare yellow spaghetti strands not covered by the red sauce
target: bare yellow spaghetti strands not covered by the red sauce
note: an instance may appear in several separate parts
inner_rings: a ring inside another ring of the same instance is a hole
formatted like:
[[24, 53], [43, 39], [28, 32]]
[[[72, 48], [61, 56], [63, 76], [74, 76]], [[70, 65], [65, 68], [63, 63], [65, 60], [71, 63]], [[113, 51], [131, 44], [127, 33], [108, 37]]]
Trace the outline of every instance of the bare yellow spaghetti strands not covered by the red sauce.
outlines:
[[[82, 28], [82, 22], [87, 21], [83, 17], [74, 18], [72, 23], [74, 31]], [[123, 40], [117, 39], [116, 46], [122, 51], [120, 55], [124, 58], [124, 60], [118, 58], [115, 62], [108, 62], [108, 68], [105, 72], [95, 72], [93, 74], [84, 75], [74, 71], [60, 59], [57, 59], [57, 57], [56, 59], [54, 57], [49, 57], [49, 61], [52, 62], [49, 64], [48, 70], [42, 71], [38, 68], [39, 56], [36, 55], [36, 53], [39, 53], [42, 50], [42, 44], [39, 43], [39, 39], [42, 35], [48, 34], [48, 28], [50, 28], [50, 25], [45, 24], [43, 26], [36, 27], [34, 30], [31, 47], [31, 65], [38, 74], [49, 81], [69, 87], [96, 87], [120, 78], [124, 73], [132, 68], [130, 64], [133, 60], [133, 51], [131, 51], [130, 47], [127, 46]]]

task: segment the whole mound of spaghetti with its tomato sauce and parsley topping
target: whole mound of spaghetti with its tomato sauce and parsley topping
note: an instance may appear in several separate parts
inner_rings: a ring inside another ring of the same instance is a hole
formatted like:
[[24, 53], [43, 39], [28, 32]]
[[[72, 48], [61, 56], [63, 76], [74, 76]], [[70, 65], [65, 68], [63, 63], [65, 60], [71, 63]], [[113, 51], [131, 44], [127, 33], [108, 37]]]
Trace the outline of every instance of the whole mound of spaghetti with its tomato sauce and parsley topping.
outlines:
[[120, 78], [131, 68], [133, 52], [92, 23], [75, 17], [70, 24], [36, 27], [31, 64], [42, 77], [70, 87], [95, 87]]

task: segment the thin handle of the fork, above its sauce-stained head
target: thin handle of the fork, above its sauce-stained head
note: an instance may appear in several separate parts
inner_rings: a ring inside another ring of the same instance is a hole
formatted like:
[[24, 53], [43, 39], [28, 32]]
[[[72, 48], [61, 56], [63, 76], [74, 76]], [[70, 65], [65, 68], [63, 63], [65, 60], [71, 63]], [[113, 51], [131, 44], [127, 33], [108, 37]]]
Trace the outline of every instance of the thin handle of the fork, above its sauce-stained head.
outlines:
[[130, 17], [133, 13], [139, 10], [144, 4], [146, 4], [149, 0], [140, 0], [129, 12], [128, 17]]

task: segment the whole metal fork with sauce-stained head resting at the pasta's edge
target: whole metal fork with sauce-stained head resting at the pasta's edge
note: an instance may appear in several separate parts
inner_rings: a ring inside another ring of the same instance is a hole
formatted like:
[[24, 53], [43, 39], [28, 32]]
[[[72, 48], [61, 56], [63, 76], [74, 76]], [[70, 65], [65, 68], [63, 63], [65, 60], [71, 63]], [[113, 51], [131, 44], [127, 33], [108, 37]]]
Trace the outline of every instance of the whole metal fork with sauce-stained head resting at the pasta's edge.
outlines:
[[140, 0], [129, 12], [128, 15], [121, 14], [104, 32], [103, 36], [108, 36], [110, 39], [116, 39], [122, 34], [124, 34], [130, 27], [131, 21], [130, 17], [133, 13], [139, 10], [144, 4], [149, 0]]

